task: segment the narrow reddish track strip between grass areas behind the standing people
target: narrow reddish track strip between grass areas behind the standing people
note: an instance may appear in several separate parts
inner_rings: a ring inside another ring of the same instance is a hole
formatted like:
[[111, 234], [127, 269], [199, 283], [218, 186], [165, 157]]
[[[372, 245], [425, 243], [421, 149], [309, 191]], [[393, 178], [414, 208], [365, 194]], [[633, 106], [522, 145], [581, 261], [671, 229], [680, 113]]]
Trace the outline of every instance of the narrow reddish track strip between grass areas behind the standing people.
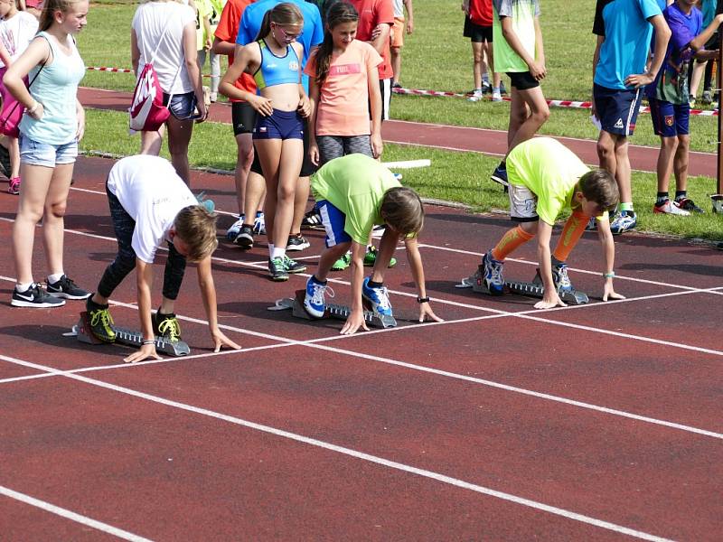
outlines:
[[[127, 92], [81, 88], [78, 96], [85, 107], [126, 111], [131, 95]], [[231, 122], [231, 111], [224, 103], [211, 104], [210, 118], [216, 122]], [[433, 125], [403, 120], [385, 121], [382, 126], [384, 140], [402, 145], [422, 145], [455, 151], [495, 154], [507, 152], [507, 132], [463, 126]], [[556, 137], [573, 150], [586, 164], [597, 164], [596, 142], [574, 137]], [[630, 163], [633, 169], [654, 172], [658, 160], [658, 148], [630, 145]], [[716, 155], [690, 153], [690, 175], [706, 175], [716, 178]]]

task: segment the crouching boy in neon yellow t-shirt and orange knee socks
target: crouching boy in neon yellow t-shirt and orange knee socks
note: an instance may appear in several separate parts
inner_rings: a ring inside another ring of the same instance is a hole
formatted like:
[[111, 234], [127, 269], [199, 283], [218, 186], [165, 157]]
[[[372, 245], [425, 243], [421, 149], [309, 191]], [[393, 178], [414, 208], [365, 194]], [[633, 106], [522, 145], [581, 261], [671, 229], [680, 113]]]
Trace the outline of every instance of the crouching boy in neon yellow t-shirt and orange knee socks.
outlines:
[[[565, 306], [558, 293], [563, 289], [572, 290], [565, 262], [585, 232], [590, 217], [596, 217], [606, 266], [603, 301], [624, 299], [613, 288], [615, 243], [607, 220], [608, 210], [614, 209], [619, 199], [613, 175], [605, 170], [590, 171], [572, 151], [551, 137], [535, 137], [512, 149], [507, 157], [507, 173], [510, 215], [519, 224], [507, 231], [482, 258], [482, 279], [490, 294], [502, 295], [504, 292], [504, 258], [537, 235], [545, 294], [535, 308]], [[558, 246], [550, 255], [552, 227], [564, 209], [571, 209], [572, 214], [562, 229]]]

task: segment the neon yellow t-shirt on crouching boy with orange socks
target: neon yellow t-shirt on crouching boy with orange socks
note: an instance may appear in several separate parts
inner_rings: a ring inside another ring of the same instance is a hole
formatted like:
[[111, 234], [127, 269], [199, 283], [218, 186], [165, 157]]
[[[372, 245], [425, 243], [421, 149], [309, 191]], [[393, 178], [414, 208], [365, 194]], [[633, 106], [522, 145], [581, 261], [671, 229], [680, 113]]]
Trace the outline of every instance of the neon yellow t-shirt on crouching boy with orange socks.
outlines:
[[540, 220], [553, 225], [561, 210], [571, 208], [575, 185], [589, 168], [551, 137], [533, 137], [512, 149], [507, 178], [537, 196]]

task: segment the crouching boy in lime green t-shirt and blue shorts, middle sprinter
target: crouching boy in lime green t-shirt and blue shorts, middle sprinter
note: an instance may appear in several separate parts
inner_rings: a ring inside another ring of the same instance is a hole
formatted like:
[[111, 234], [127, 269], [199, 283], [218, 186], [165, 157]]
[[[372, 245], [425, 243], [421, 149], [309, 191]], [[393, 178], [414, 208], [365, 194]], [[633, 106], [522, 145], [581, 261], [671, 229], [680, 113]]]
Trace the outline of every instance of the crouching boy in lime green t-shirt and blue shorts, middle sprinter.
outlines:
[[[429, 306], [425, 289], [424, 268], [419, 254], [417, 236], [424, 225], [424, 208], [417, 192], [402, 187], [382, 164], [364, 154], [347, 154], [324, 164], [312, 177], [312, 192], [326, 230], [326, 250], [319, 259], [315, 275], [306, 282], [304, 308], [307, 313], [324, 316], [326, 276], [333, 263], [352, 248], [352, 313], [342, 328], [351, 335], [364, 322], [362, 297], [376, 313], [391, 314], [384, 272], [389, 266], [399, 238], [404, 238], [412, 276], [418, 287], [419, 322], [427, 316], [441, 319]], [[381, 237], [379, 255], [371, 276], [364, 278], [364, 254], [371, 229], [386, 225]]]

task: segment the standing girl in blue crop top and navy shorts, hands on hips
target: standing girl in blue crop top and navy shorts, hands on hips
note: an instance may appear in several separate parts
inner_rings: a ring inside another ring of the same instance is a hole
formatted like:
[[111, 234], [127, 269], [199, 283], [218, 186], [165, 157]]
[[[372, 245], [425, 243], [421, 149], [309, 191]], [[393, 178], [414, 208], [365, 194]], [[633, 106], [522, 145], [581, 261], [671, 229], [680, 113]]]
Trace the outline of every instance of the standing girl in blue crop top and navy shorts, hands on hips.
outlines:
[[[304, 57], [304, 46], [296, 42], [303, 24], [296, 5], [274, 6], [264, 16], [257, 41], [237, 45], [235, 60], [219, 87], [221, 94], [247, 101], [258, 112], [253, 139], [267, 185], [268, 272], [276, 281], [306, 270], [286, 256], [296, 182], [304, 160], [302, 118], [311, 113], [301, 85], [299, 59]], [[234, 86], [244, 71], [256, 79], [258, 95]]]

